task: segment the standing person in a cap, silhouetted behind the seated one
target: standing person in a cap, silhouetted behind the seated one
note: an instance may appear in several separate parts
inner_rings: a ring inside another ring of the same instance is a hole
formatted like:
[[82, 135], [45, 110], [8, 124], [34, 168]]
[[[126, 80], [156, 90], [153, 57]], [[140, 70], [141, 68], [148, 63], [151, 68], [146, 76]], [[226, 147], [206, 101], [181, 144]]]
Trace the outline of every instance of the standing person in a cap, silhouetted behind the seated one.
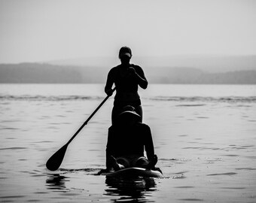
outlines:
[[114, 96], [114, 107], [112, 109], [112, 124], [116, 121], [118, 115], [126, 105], [131, 105], [141, 117], [142, 106], [138, 93], [138, 86], [146, 89], [148, 80], [142, 68], [139, 65], [130, 63], [132, 58], [132, 50], [130, 47], [121, 47], [119, 51], [119, 59], [121, 64], [117, 65], [108, 72], [108, 78], [105, 84], [105, 93], [112, 95], [111, 87], [116, 86], [116, 95]]

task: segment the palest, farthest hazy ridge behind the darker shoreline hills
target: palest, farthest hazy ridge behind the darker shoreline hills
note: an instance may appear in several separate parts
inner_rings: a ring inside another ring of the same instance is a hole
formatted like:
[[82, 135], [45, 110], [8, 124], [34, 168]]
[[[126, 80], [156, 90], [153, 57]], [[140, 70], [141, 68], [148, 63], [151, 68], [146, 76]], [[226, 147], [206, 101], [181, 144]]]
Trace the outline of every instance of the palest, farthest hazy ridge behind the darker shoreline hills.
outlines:
[[[85, 57], [47, 62], [52, 65], [75, 65], [82, 67], [110, 68], [119, 63], [116, 57]], [[143, 68], [176, 67], [198, 68], [209, 73], [227, 71], [256, 71], [256, 56], [133, 56], [132, 63]]]

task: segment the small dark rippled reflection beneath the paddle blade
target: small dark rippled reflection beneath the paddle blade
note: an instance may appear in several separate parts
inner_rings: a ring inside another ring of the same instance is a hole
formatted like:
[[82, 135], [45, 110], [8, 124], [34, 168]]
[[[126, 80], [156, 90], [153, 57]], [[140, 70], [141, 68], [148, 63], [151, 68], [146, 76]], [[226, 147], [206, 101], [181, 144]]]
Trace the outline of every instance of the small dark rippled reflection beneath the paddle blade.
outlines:
[[69, 189], [66, 189], [65, 183], [69, 177], [60, 175], [60, 174], [47, 174], [48, 178], [46, 180], [47, 189], [55, 189], [58, 191], [66, 192]]

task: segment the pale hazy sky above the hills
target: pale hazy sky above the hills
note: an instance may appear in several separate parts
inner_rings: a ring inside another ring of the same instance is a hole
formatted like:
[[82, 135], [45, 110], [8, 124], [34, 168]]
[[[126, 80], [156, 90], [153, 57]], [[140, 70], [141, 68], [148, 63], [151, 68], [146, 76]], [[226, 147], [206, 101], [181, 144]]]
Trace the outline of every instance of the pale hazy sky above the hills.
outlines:
[[256, 54], [254, 0], [0, 0], [0, 63]]

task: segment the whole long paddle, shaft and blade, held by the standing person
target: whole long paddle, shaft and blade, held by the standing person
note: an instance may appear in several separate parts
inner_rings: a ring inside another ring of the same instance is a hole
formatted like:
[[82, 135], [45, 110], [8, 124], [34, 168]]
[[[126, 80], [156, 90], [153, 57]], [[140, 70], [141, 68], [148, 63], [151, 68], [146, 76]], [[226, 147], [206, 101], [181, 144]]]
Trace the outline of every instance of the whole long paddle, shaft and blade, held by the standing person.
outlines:
[[[112, 89], [112, 92], [114, 92], [114, 89]], [[96, 112], [99, 110], [99, 108], [102, 107], [102, 105], [107, 101], [108, 97], [110, 95], [108, 95], [102, 103], [100, 103], [100, 105], [98, 106], [98, 108], [96, 108], [95, 111], [93, 111], [93, 114], [90, 115], [90, 117], [84, 122], [84, 124], [80, 127], [80, 129], [78, 129], [77, 132], [75, 132], [75, 135], [72, 136], [72, 138], [64, 145], [62, 146], [59, 150], [56, 151], [56, 153], [53, 154], [53, 156], [50, 156], [50, 159], [48, 159], [48, 161], [46, 162], [46, 167], [50, 170], [50, 171], [56, 171], [59, 168], [59, 165], [61, 165], [62, 160], [65, 156], [67, 147], [69, 146], [69, 144], [72, 142], [72, 140], [75, 138], [76, 135], [78, 135], [78, 133], [81, 131], [81, 129], [84, 128], [85, 125], [87, 125], [88, 121], [93, 117], [94, 114], [96, 114]]]

